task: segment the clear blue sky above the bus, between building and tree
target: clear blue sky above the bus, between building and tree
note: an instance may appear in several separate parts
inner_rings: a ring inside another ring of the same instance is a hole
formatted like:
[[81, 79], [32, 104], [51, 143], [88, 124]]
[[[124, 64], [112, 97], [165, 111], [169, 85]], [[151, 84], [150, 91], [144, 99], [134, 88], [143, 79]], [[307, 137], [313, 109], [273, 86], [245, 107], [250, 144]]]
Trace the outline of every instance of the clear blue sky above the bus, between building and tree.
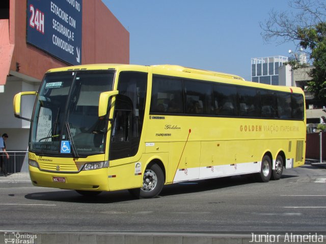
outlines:
[[[294, 43], [264, 43], [269, 12], [285, 0], [102, 0], [130, 34], [130, 64], [181, 65], [251, 80], [251, 58], [288, 56]], [[278, 40], [281, 41], [281, 40]]]

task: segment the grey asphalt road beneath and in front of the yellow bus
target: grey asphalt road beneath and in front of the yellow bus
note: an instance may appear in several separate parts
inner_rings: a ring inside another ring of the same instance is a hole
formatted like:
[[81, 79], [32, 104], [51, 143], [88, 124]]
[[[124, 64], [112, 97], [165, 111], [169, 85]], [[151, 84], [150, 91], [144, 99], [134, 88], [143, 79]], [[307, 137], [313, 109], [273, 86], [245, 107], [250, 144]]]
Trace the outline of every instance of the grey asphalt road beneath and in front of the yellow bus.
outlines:
[[0, 231], [325, 231], [325, 182], [325, 169], [306, 165], [268, 183], [239, 176], [167, 186], [155, 199], [3, 188]]

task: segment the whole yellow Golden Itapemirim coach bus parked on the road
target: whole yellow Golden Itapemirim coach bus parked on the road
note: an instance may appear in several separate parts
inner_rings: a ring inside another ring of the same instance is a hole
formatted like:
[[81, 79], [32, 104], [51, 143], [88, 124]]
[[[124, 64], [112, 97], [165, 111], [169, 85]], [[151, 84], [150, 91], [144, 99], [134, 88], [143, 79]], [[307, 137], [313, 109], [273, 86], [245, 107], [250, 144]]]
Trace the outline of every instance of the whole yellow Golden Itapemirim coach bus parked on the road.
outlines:
[[[280, 179], [305, 163], [304, 93], [181, 66], [84, 65], [49, 70], [29, 140], [34, 186], [83, 195], [157, 196], [181, 181], [254, 174]], [[23, 118], [29, 119], [29, 118]]]

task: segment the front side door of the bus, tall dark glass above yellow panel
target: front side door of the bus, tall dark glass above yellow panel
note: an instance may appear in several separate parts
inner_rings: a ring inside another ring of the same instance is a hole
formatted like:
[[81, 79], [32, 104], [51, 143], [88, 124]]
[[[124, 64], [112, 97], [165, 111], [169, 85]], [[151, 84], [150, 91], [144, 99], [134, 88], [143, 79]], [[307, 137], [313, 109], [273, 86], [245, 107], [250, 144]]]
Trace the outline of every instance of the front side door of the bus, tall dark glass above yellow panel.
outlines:
[[[119, 74], [115, 111], [111, 124], [108, 159], [110, 190], [140, 188], [142, 162], [136, 157], [145, 114], [147, 73], [123, 71]], [[138, 156], [139, 157], [139, 156]]]

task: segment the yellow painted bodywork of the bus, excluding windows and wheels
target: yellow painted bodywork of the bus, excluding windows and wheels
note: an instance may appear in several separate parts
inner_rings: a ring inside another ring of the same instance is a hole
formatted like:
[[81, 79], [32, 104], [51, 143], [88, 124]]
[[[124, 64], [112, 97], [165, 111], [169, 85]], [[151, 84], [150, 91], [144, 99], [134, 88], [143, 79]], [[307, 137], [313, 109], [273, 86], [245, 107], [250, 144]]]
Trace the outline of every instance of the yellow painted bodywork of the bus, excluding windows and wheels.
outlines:
[[[30, 153], [40, 169], [30, 166], [33, 184], [61, 189], [114, 191], [140, 188], [144, 172], [152, 163], [160, 163], [165, 173], [165, 184], [260, 172], [265, 154], [270, 154], [275, 168], [279, 154], [285, 155], [284, 166], [293, 168], [305, 163], [305, 120], [232, 118], [217, 116], [187, 116], [149, 114], [152, 74], [183, 77], [203, 81], [216, 81], [248, 87], [272, 89], [302, 94], [298, 87], [283, 87], [243, 81], [241, 77], [218, 72], [195, 71], [179, 66], [85, 65], [52, 69], [67, 70], [116, 69], [148, 72], [146, 110], [143, 132], [137, 155], [112, 160], [108, 168], [78, 171], [87, 162], [107, 161], [110, 136], [106, 138], [105, 155], [85, 159], [39, 157]], [[116, 76], [114, 90], [117, 89]], [[114, 101], [114, 98], [113, 98]], [[110, 116], [113, 115], [111, 108]], [[109, 123], [107, 134], [111, 133]], [[46, 163], [43, 160], [52, 160]], [[57, 171], [57, 165], [60, 169]], [[64, 177], [65, 182], [55, 182], [53, 177]]]

